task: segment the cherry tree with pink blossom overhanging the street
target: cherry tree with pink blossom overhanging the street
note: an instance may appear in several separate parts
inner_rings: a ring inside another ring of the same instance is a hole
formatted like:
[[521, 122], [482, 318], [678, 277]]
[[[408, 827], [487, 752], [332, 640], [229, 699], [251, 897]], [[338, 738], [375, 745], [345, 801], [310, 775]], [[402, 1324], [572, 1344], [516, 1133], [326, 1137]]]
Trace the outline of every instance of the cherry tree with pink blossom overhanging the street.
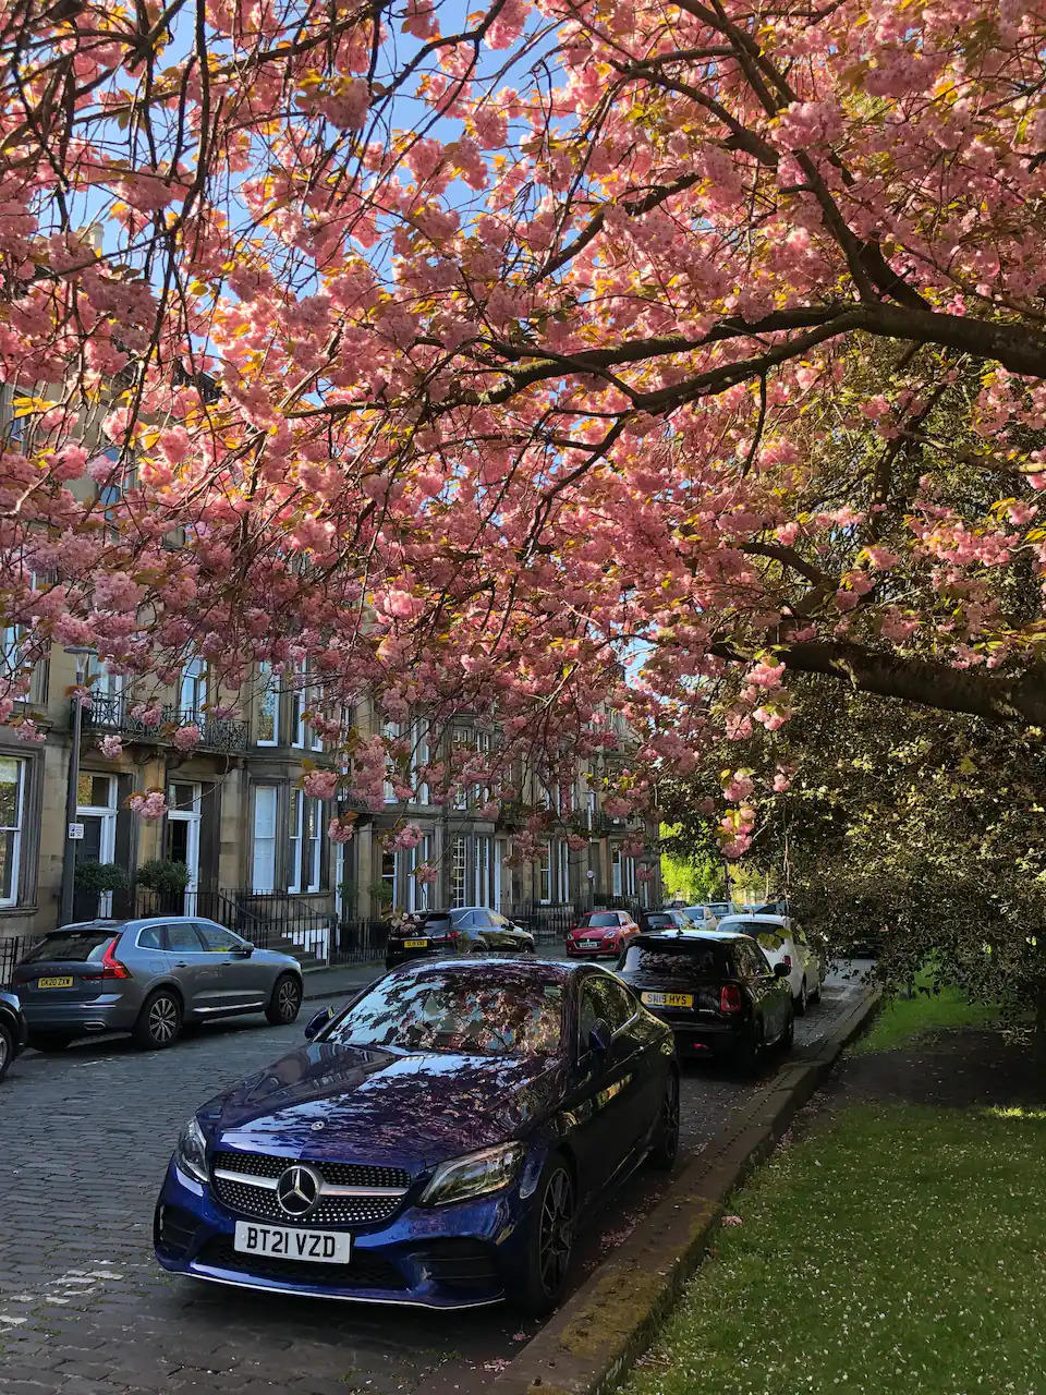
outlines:
[[52, 640], [307, 664], [371, 799], [404, 756], [361, 695], [497, 714], [509, 798], [619, 709], [629, 806], [794, 672], [1042, 723], [1045, 38], [3, 0], [4, 702]]

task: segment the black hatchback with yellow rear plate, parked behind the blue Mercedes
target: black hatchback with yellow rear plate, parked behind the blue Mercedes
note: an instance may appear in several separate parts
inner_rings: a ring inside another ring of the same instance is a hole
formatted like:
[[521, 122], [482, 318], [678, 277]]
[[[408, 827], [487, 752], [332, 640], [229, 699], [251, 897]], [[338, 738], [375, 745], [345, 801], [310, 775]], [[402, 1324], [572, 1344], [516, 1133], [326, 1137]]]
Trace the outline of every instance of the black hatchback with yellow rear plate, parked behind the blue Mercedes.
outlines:
[[672, 1028], [681, 1056], [725, 1056], [742, 1070], [753, 1070], [766, 1048], [792, 1045], [787, 974], [749, 935], [724, 930], [640, 935], [618, 965], [643, 1006]]

